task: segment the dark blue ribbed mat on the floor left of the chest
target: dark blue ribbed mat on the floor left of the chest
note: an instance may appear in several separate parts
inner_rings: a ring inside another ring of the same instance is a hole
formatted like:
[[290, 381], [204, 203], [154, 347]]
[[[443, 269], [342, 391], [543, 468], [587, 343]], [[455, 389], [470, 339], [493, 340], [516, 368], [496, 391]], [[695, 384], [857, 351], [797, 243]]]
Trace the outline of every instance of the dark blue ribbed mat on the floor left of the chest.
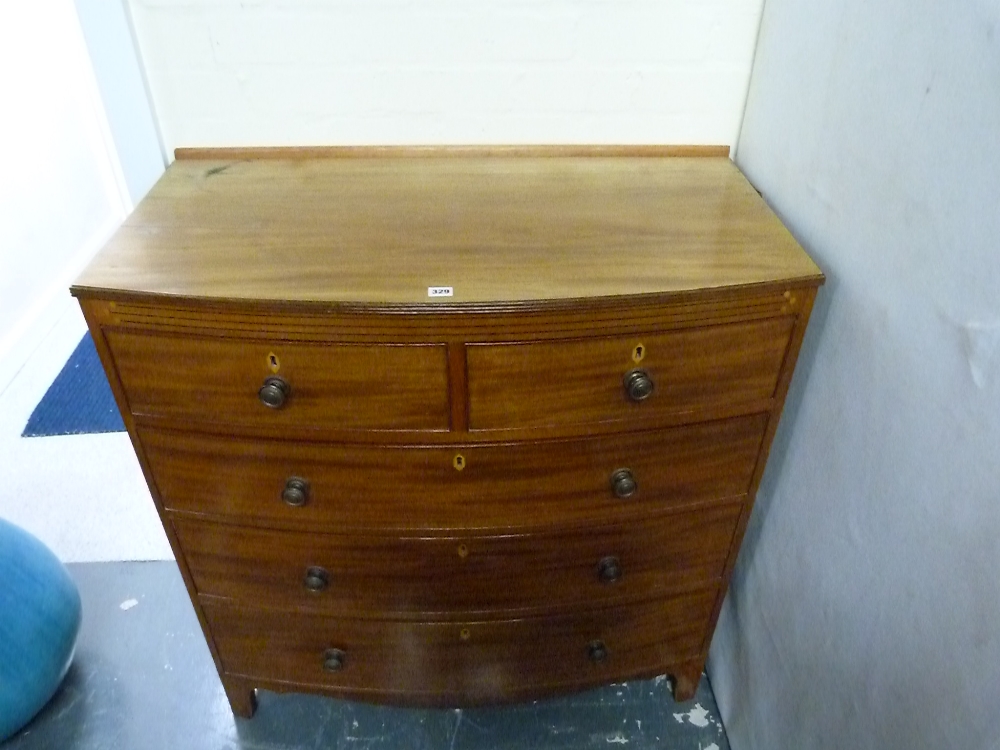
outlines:
[[88, 332], [31, 413], [21, 437], [124, 431], [125, 424]]

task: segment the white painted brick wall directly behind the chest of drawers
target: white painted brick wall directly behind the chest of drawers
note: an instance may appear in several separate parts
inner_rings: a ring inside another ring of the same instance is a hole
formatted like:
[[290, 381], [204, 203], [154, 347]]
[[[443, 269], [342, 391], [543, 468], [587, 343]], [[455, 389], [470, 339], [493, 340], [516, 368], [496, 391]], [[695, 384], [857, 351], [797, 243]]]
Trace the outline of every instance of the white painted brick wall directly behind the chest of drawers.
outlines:
[[735, 141], [762, 0], [129, 0], [177, 146]]

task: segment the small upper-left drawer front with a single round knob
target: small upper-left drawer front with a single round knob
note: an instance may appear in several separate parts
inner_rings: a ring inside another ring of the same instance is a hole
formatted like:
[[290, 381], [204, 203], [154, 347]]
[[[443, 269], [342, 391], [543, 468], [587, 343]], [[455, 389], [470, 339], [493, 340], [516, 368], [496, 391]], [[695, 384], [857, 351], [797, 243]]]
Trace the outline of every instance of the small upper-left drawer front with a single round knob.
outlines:
[[[325, 345], [114, 330], [106, 335], [137, 416], [282, 435], [310, 428], [448, 429], [444, 345]], [[259, 396], [275, 376], [289, 387], [279, 408], [265, 406]]]

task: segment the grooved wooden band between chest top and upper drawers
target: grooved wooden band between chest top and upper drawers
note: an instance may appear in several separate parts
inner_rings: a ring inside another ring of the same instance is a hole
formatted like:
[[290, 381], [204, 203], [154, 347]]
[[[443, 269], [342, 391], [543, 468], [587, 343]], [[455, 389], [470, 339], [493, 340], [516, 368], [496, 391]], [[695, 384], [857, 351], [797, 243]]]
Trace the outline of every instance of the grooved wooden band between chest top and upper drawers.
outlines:
[[[102, 292], [102, 326], [184, 335], [296, 341], [510, 341], [630, 335], [699, 325], [762, 320], [788, 313], [786, 295], [813, 283], [738, 286], [640, 297], [594, 297], [432, 307], [316, 305], [294, 300], [174, 299], [136, 292]], [[99, 312], [98, 312], [99, 311]]]

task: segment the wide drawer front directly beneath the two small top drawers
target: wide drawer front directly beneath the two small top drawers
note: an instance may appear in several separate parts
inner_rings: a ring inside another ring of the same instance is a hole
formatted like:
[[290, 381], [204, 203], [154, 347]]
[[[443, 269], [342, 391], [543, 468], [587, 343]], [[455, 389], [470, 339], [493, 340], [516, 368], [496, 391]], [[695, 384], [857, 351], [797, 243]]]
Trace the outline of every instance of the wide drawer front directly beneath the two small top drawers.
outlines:
[[[452, 447], [139, 435], [170, 510], [308, 529], [475, 529], [607, 522], [741, 496], [765, 425], [758, 414], [588, 440]], [[624, 498], [612, 483], [621, 469], [636, 485]], [[308, 489], [304, 504], [291, 506], [282, 495], [295, 478]]]

